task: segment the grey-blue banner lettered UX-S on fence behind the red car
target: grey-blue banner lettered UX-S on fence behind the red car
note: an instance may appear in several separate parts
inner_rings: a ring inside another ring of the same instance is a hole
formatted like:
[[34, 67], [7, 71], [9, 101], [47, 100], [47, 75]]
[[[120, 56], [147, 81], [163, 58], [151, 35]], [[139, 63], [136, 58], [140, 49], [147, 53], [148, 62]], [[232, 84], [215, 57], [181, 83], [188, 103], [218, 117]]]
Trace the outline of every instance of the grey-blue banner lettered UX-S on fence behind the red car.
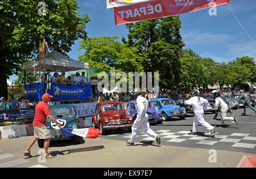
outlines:
[[76, 115], [79, 117], [93, 116], [97, 103], [71, 104], [76, 108]]

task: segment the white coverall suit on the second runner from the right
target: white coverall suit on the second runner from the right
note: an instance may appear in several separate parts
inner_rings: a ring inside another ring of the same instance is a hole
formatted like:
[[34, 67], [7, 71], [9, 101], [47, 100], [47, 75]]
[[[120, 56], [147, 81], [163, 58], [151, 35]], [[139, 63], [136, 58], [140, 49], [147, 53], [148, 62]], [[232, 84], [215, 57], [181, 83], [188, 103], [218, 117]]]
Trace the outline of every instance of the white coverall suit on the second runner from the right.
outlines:
[[225, 101], [223, 99], [221, 99], [221, 97], [217, 97], [215, 99], [215, 106], [214, 109], [220, 110], [221, 113], [221, 125], [225, 125], [224, 121], [229, 121], [229, 122], [233, 122], [234, 121], [234, 117], [226, 117], [226, 113], [230, 112], [230, 106], [228, 106], [228, 104], [225, 103]]

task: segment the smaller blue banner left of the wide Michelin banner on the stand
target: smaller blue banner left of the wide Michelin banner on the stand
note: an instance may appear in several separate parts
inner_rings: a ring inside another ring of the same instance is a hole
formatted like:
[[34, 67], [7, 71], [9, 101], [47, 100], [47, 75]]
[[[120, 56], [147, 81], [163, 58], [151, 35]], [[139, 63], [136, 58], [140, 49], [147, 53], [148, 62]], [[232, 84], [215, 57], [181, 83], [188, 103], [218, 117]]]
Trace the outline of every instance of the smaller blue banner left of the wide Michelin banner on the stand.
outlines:
[[24, 85], [24, 97], [28, 100], [41, 100], [43, 96], [43, 82]]

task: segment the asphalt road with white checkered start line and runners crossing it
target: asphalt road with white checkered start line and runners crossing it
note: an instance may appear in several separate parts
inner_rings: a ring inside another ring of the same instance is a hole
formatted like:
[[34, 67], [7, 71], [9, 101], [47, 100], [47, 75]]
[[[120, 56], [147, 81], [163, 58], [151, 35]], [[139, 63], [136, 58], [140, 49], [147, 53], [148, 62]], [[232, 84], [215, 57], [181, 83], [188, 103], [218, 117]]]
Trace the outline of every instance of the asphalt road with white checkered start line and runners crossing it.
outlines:
[[[0, 167], [85, 167], [85, 168], [169, 168], [169, 167], [236, 167], [242, 156], [255, 156], [256, 115], [247, 109], [248, 116], [241, 116], [242, 109], [234, 110], [239, 125], [212, 121], [213, 114], [205, 119], [215, 127], [216, 138], [211, 138], [203, 126], [200, 136], [187, 135], [192, 128], [192, 116], [186, 120], [172, 119], [161, 125], [151, 126], [162, 138], [158, 146], [154, 139], [139, 131], [135, 146], [127, 146], [127, 130], [109, 131], [97, 139], [84, 138], [81, 144], [71, 140], [51, 142], [49, 152], [55, 159], [42, 160], [42, 151], [35, 144], [32, 158], [22, 156], [32, 137], [0, 140]], [[218, 117], [219, 118], [219, 117]], [[203, 133], [206, 132], [206, 133]], [[220, 141], [221, 140], [221, 141]], [[113, 169], [112, 169], [113, 170]], [[98, 175], [104, 175], [104, 169]]]

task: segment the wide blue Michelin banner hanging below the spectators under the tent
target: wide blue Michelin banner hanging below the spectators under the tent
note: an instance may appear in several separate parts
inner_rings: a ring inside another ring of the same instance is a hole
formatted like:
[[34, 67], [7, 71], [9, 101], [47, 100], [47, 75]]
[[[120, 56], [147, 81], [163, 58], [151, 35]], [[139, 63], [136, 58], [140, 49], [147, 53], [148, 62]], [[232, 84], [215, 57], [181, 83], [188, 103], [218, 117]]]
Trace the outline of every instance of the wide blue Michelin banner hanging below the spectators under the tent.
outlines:
[[51, 90], [47, 91], [52, 95], [52, 101], [87, 100], [92, 97], [90, 84], [74, 84], [71, 86], [52, 83]]

